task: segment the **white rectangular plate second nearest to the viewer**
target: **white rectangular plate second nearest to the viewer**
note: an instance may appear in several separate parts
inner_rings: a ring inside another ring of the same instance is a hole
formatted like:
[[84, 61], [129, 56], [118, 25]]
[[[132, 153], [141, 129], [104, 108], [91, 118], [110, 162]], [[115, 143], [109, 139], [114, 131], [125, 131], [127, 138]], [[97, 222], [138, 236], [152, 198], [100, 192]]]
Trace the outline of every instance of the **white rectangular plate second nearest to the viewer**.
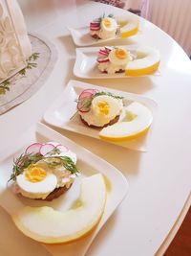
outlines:
[[[47, 111], [44, 114], [44, 120], [54, 127], [64, 128], [68, 130], [72, 130], [74, 132], [84, 134], [96, 139], [99, 139], [98, 129], [96, 128], [88, 128], [85, 126], [79, 115], [76, 115], [72, 120], [70, 118], [74, 115], [76, 111], [76, 103], [75, 100], [78, 98], [78, 95], [84, 89], [97, 89], [100, 91], [109, 91], [118, 96], [124, 97], [127, 101], [137, 101], [144, 105], [147, 105], [153, 113], [154, 119], [156, 115], [157, 104], [146, 97], [142, 97], [138, 94], [118, 91], [110, 88], [105, 88], [101, 86], [96, 86], [94, 84], [85, 83], [81, 81], [69, 81], [67, 87], [63, 91], [63, 93], [53, 102]], [[149, 140], [149, 136], [151, 134], [152, 127], [154, 126], [154, 122], [147, 133], [139, 136], [137, 139], [133, 139], [130, 141], [122, 141], [122, 142], [111, 142], [118, 146], [122, 146], [124, 148], [138, 150], [138, 151], [146, 151], [147, 150], [147, 142]]]

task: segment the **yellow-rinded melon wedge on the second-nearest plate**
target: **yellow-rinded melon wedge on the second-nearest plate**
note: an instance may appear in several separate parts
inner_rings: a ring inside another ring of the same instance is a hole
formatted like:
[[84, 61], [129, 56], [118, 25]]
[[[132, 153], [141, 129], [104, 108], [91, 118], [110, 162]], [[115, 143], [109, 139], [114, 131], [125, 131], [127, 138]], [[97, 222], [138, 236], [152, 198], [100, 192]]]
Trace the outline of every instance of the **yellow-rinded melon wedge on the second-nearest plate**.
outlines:
[[124, 141], [134, 139], [150, 128], [153, 115], [145, 105], [135, 102], [125, 109], [126, 116], [122, 122], [102, 128], [99, 136], [108, 141]]

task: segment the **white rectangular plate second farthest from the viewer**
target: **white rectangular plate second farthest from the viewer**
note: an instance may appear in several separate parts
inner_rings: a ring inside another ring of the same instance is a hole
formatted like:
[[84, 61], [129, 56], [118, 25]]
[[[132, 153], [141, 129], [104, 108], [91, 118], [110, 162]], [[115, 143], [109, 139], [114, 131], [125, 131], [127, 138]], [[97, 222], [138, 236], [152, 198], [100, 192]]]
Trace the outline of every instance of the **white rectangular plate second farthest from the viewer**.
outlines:
[[[127, 51], [134, 53], [138, 48], [138, 45], [123, 45]], [[76, 48], [76, 58], [74, 63], [74, 76], [81, 79], [128, 79], [135, 78], [132, 76], [126, 76], [125, 72], [116, 73], [116, 74], [106, 74], [102, 73], [97, 68], [97, 54], [102, 47], [88, 47], [88, 48]], [[141, 77], [147, 76], [159, 76], [159, 70], [150, 75], [144, 75]], [[136, 77], [137, 78], [137, 77]]]

